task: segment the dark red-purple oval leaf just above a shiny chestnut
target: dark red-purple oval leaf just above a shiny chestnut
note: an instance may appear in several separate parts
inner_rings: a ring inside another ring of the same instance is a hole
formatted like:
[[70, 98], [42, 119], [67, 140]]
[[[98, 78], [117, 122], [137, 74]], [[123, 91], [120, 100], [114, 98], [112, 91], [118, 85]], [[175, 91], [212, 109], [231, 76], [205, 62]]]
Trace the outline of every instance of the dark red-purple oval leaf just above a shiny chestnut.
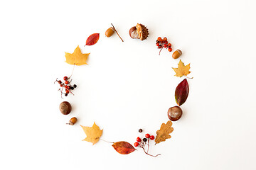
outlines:
[[178, 84], [175, 91], [175, 100], [178, 106], [181, 106], [183, 103], [185, 103], [186, 99], [188, 98], [188, 92], [188, 81], [183, 79], [183, 81]]

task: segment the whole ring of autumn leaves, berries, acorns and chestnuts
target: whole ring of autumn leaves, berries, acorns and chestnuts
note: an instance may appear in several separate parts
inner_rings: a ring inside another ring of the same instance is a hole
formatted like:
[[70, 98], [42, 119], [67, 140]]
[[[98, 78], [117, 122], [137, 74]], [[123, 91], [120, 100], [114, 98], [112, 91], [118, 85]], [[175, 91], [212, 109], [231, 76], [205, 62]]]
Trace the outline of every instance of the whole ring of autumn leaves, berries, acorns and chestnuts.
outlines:
[[[114, 28], [112, 23], [111, 25], [112, 27], [108, 28], [105, 32], [105, 35], [107, 38], [110, 38], [114, 33], [117, 33], [117, 30], [116, 28]], [[122, 40], [122, 38], [118, 33], [117, 35]], [[133, 39], [146, 40], [146, 38], [149, 35], [149, 31], [146, 28], [146, 26], [138, 23], [136, 26], [133, 26], [132, 28], [129, 29], [129, 35]], [[85, 46], [95, 45], [99, 40], [99, 38], [100, 38], [100, 33], [93, 33], [87, 38], [85, 42]], [[122, 40], [122, 42], [124, 42], [124, 40]], [[169, 52], [172, 51], [171, 43], [168, 42], [167, 38], [161, 38], [161, 37], [157, 38], [156, 46], [159, 49], [159, 55], [161, 50], [163, 49], [166, 49]], [[73, 70], [74, 70], [75, 65], [80, 66], [83, 64], [87, 64], [87, 58], [89, 57], [89, 55], [90, 53], [82, 53], [80, 50], [80, 47], [78, 46], [75, 48], [73, 53], [65, 52], [65, 58], [66, 58], [65, 62], [67, 62], [68, 64], [72, 64], [74, 66], [73, 67]], [[176, 50], [175, 52], [173, 52], [172, 57], [174, 58], [174, 60], [176, 60], [181, 55], [182, 55], [181, 50]], [[178, 67], [172, 68], [172, 69], [174, 69], [174, 72], [176, 72], [175, 74], [176, 77], [183, 77], [183, 76], [186, 77], [188, 74], [191, 73], [189, 71], [190, 64], [185, 65], [183, 62], [181, 62], [181, 60], [178, 62]], [[73, 94], [73, 90], [77, 87], [76, 84], [71, 84], [72, 79], [70, 78], [72, 77], [72, 74], [70, 77], [63, 77], [63, 81], [58, 79], [55, 80], [55, 82], [58, 82], [58, 84], [60, 85], [60, 88], [58, 89], [58, 91], [60, 91], [61, 98], [63, 98], [63, 96], [68, 96], [68, 94]], [[183, 81], [181, 81], [181, 83], [179, 83], [178, 86], [176, 86], [174, 97], [178, 106], [169, 108], [167, 112], [169, 121], [167, 121], [167, 123], [161, 124], [160, 129], [156, 131], [156, 137], [154, 137], [154, 135], [149, 135], [148, 133], [146, 133], [142, 139], [140, 137], [137, 137], [136, 142], [134, 142], [134, 146], [131, 145], [129, 142], [125, 142], [125, 141], [109, 142], [109, 143], [112, 143], [112, 147], [119, 154], [130, 154], [135, 150], [137, 150], [134, 147], [140, 147], [142, 148], [145, 154], [151, 157], [157, 157], [160, 155], [160, 154], [156, 154], [156, 155], [149, 154], [149, 146], [150, 146], [149, 143], [150, 141], [154, 141], [156, 145], [156, 144], [159, 144], [160, 142], [164, 142], [167, 139], [171, 138], [171, 135], [169, 134], [174, 130], [174, 128], [171, 127], [172, 121], [176, 121], [181, 118], [181, 115], [183, 112], [180, 106], [183, 103], [185, 103], [186, 99], [188, 98], [189, 88], [188, 88], [188, 81], [186, 78], [183, 79]], [[193, 78], [189, 78], [189, 79], [193, 79]], [[63, 115], [68, 115], [72, 111], [72, 106], [68, 101], [63, 101], [62, 103], [60, 103], [59, 108], [60, 108], [60, 112], [63, 113]], [[75, 118], [75, 117], [70, 118], [69, 123], [67, 124], [75, 125], [77, 120], [78, 118]], [[102, 140], [100, 137], [102, 136], [103, 130], [100, 130], [99, 126], [97, 126], [95, 123], [92, 125], [92, 127], [87, 127], [83, 125], [80, 125], [80, 126], [82, 127], [82, 130], [84, 130], [86, 134], [86, 137], [83, 141], [92, 142], [92, 145], [95, 145], [95, 143], [97, 143], [99, 140]], [[139, 129], [139, 132], [143, 132], [143, 130]], [[106, 140], [102, 140], [102, 141], [108, 142]]]

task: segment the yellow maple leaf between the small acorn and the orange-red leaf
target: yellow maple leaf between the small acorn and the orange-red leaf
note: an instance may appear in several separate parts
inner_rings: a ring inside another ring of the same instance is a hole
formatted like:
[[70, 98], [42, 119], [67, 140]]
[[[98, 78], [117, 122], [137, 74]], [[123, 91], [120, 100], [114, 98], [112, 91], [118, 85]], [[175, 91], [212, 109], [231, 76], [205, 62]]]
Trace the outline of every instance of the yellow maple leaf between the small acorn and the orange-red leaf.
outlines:
[[82, 141], [92, 142], [92, 145], [95, 145], [100, 140], [103, 130], [100, 130], [95, 123], [93, 123], [92, 127], [80, 126], [86, 134], [86, 138]]

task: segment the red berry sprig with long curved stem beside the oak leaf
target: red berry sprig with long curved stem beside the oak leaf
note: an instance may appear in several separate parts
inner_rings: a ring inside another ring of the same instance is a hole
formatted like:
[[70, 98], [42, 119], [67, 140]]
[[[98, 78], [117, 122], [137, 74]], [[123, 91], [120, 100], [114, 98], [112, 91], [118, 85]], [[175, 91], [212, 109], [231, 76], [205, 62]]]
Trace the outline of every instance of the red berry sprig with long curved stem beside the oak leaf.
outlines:
[[[140, 129], [139, 132], [142, 132], [142, 130]], [[157, 157], [160, 154], [157, 154], [156, 156], [149, 154], [149, 141], [150, 140], [154, 140], [154, 135], [149, 135], [149, 133], [146, 133], [146, 135], [143, 139], [141, 139], [140, 137], [137, 137], [137, 139], [136, 139], [137, 142], [134, 143], [134, 147], [142, 147], [145, 154], [148, 154], [151, 157]], [[147, 149], [146, 149], [146, 147], [147, 147]]]

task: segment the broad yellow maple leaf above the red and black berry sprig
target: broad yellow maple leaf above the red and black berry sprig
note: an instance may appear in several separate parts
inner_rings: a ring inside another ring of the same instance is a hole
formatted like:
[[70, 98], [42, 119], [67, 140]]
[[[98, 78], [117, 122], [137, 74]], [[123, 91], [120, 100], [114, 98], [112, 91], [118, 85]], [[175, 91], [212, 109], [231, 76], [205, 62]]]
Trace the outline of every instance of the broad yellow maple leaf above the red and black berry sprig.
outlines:
[[76, 47], [72, 54], [65, 52], [66, 61], [68, 64], [83, 65], [87, 64], [86, 60], [90, 53], [82, 54], [80, 47]]

